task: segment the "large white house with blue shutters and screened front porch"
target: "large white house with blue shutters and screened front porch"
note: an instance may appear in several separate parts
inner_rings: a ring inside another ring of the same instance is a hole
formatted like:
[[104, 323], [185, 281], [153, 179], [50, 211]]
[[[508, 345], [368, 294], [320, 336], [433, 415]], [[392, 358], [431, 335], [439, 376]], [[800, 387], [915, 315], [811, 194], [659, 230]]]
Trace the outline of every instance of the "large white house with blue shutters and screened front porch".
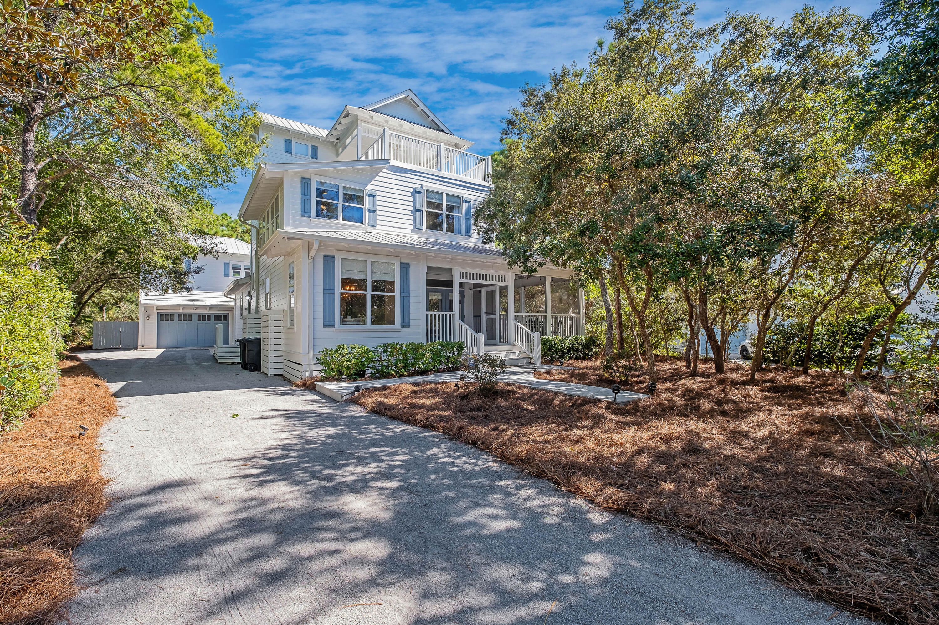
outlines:
[[462, 341], [470, 353], [540, 358], [538, 334], [583, 331], [570, 272], [523, 276], [483, 243], [473, 211], [492, 163], [408, 90], [346, 106], [330, 129], [262, 114], [267, 138], [239, 218], [250, 279], [236, 297], [262, 372], [316, 373], [341, 343]]

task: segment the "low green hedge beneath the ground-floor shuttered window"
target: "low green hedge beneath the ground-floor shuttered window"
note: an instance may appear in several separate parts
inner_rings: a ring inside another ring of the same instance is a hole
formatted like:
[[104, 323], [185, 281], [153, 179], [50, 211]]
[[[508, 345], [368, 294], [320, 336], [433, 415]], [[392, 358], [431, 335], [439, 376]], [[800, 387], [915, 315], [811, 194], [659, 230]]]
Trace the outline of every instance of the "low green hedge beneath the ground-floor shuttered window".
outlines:
[[324, 348], [316, 357], [320, 377], [356, 380], [371, 373], [375, 377], [397, 377], [460, 366], [462, 341], [436, 343], [384, 343], [377, 347], [337, 345]]

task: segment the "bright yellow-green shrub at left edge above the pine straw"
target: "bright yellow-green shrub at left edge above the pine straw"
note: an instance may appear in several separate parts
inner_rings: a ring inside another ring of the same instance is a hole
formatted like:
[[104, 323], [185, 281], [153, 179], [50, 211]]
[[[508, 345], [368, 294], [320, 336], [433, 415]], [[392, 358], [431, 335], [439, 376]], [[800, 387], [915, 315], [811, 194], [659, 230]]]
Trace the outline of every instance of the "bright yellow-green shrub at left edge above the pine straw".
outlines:
[[69, 291], [37, 268], [49, 248], [31, 234], [23, 223], [0, 221], [0, 431], [52, 396], [71, 308]]

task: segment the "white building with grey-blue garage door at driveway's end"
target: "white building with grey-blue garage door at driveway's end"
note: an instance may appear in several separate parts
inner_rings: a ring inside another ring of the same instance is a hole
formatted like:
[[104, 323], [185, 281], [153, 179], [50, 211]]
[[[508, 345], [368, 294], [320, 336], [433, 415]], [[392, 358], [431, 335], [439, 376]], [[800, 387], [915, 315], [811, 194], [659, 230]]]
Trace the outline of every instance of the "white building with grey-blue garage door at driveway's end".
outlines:
[[223, 328], [223, 341], [241, 336], [235, 300], [223, 292], [232, 279], [251, 275], [251, 246], [228, 236], [216, 236], [213, 254], [187, 260], [192, 269], [181, 293], [140, 293], [139, 347], [211, 347], [215, 327]]

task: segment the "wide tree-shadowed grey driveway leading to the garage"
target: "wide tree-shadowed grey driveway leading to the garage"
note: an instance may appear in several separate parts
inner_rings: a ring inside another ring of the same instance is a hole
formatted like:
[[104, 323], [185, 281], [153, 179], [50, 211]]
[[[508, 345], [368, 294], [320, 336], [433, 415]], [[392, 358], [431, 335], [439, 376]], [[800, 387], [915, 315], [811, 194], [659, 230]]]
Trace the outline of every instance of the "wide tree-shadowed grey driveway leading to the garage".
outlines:
[[76, 625], [868, 622], [206, 350], [82, 357], [120, 417], [100, 435], [115, 503], [75, 554]]

